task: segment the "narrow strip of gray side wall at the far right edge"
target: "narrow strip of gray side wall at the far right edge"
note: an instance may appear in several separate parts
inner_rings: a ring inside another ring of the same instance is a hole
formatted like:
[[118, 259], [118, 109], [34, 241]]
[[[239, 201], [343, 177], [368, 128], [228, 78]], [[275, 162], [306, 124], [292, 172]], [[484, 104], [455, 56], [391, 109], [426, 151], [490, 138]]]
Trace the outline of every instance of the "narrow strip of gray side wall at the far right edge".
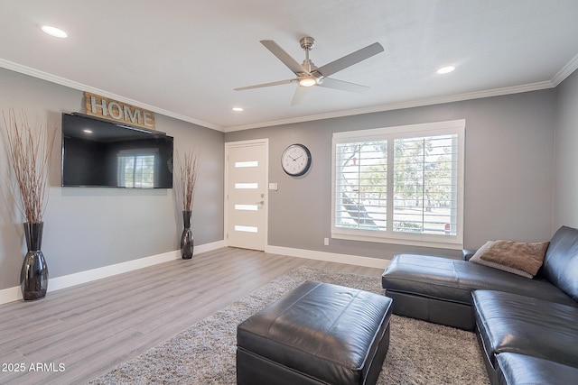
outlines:
[[578, 227], [578, 71], [557, 92], [554, 226]]

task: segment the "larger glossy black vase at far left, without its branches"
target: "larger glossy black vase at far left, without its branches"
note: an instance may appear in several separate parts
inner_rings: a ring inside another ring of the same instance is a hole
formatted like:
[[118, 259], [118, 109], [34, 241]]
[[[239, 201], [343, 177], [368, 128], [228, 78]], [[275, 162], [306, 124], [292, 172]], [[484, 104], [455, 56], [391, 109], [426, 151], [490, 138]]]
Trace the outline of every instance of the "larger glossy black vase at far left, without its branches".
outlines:
[[22, 270], [20, 271], [20, 286], [22, 297], [25, 301], [46, 297], [48, 289], [48, 266], [44, 254], [40, 250], [42, 246], [42, 228], [44, 223], [24, 224], [24, 237], [28, 252], [24, 256]]

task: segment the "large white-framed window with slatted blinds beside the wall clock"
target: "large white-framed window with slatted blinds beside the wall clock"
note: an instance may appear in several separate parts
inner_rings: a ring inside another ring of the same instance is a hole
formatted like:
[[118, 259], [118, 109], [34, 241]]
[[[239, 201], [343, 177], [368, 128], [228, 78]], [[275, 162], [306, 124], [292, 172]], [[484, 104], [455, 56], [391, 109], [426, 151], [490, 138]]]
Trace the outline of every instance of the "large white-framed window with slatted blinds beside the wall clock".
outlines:
[[334, 133], [331, 236], [461, 249], [464, 127]]

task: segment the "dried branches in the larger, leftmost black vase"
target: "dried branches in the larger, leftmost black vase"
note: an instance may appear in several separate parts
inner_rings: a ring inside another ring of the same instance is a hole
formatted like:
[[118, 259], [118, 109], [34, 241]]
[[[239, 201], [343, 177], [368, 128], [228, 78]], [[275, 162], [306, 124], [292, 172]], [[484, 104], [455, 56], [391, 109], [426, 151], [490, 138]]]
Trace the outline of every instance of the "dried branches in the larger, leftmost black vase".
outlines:
[[4, 111], [2, 116], [8, 161], [16, 185], [11, 188], [14, 201], [27, 223], [40, 224], [48, 196], [48, 162], [56, 127], [51, 132], [42, 124], [32, 127], [24, 112], [18, 121], [12, 109], [7, 118]]

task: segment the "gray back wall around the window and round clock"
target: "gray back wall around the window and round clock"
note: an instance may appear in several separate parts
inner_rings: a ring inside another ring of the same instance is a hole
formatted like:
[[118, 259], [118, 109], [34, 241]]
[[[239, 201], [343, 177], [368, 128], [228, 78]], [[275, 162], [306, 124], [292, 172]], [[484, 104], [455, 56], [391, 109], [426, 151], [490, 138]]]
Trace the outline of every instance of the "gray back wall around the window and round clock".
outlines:
[[[331, 237], [332, 133], [454, 119], [466, 119], [465, 247], [549, 239], [555, 89], [226, 133], [225, 141], [269, 138], [269, 181], [278, 183], [278, 191], [269, 191], [269, 245], [386, 259], [397, 252], [457, 257], [460, 252], [387, 243], [331, 239], [323, 246]], [[286, 176], [279, 163], [293, 142], [312, 151], [312, 169], [300, 179]]]

